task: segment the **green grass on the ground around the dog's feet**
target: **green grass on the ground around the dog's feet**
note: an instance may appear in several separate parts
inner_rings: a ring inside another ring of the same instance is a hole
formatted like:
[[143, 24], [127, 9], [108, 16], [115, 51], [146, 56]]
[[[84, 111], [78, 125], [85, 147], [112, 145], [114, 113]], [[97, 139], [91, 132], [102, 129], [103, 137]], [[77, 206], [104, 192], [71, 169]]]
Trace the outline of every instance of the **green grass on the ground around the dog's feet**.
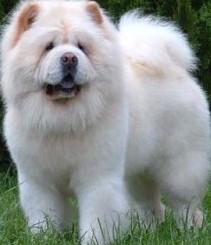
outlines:
[[[211, 244], [211, 188], [204, 199], [206, 220], [199, 230], [178, 229], [172, 215], [167, 214], [166, 221], [154, 230], [140, 227], [138, 222], [131, 225], [122, 239], [115, 245], [210, 245]], [[0, 245], [76, 245], [79, 244], [77, 228], [58, 235], [49, 230], [33, 236], [27, 229], [18, 202], [17, 180], [14, 175], [0, 174]]]

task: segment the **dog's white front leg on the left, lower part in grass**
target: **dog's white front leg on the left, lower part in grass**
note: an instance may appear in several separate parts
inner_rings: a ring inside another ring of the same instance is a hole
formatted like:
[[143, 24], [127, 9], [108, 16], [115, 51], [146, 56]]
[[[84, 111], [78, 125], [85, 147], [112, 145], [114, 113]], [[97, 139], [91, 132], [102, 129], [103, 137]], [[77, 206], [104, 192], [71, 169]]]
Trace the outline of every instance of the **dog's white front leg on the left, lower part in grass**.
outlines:
[[68, 197], [44, 179], [20, 178], [21, 206], [33, 233], [54, 227], [67, 229], [70, 223]]

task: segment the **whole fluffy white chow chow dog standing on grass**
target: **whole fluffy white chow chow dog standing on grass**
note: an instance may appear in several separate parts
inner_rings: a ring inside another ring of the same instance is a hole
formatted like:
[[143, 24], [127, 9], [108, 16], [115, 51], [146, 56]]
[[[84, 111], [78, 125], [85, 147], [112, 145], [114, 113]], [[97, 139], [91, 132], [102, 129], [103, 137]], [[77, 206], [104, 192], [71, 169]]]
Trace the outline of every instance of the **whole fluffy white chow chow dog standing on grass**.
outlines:
[[210, 121], [194, 68], [169, 23], [130, 13], [117, 31], [92, 1], [15, 9], [1, 42], [4, 132], [32, 231], [67, 228], [70, 196], [83, 244], [126, 229], [128, 196], [143, 222], [164, 219], [163, 193], [178, 224], [202, 224]]

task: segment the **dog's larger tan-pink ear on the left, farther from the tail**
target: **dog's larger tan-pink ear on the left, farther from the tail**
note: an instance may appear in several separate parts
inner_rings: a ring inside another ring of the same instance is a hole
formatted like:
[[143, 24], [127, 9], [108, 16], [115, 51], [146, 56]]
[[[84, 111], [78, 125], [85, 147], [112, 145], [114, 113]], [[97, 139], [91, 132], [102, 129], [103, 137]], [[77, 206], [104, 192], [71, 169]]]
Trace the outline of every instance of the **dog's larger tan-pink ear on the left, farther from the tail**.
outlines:
[[36, 21], [38, 13], [39, 5], [37, 3], [26, 3], [22, 6], [20, 11], [17, 13], [13, 45], [18, 42], [21, 35]]

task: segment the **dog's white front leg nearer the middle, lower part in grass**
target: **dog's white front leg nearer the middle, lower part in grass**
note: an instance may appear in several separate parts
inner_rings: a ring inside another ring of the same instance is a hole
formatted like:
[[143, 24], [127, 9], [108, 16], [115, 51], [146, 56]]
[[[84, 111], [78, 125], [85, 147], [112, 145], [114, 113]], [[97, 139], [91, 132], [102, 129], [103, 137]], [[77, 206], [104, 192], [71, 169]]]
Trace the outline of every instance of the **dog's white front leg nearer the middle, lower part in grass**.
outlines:
[[121, 179], [93, 179], [77, 195], [82, 244], [108, 244], [127, 229], [129, 206]]

